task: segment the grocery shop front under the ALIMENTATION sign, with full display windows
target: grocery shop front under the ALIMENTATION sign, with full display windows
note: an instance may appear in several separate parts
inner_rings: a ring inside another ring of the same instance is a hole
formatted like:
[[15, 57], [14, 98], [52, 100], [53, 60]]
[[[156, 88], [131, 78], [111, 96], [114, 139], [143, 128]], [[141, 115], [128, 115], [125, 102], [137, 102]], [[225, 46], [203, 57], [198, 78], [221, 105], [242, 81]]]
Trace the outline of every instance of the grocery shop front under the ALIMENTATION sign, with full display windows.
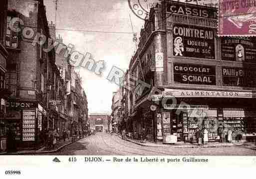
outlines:
[[256, 140], [256, 100], [252, 92], [166, 89], [156, 112], [157, 139], [175, 135], [196, 142], [196, 130], [207, 130], [208, 140]]

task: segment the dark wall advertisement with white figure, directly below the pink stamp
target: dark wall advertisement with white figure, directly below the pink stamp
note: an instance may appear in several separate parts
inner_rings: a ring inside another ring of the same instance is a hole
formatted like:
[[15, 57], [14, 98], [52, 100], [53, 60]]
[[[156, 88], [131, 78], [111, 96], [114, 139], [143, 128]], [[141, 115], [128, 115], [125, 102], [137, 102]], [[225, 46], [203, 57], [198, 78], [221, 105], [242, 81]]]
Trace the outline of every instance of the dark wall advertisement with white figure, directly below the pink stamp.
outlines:
[[221, 37], [222, 60], [255, 62], [256, 37]]

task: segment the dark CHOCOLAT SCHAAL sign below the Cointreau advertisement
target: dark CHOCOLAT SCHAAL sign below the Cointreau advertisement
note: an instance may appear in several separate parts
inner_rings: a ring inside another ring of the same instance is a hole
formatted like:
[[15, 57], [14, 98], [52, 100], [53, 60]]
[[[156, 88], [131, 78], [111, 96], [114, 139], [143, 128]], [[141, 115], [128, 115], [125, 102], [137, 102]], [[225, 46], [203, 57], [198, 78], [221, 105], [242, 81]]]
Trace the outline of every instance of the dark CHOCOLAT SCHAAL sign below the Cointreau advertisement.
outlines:
[[215, 66], [174, 63], [174, 81], [186, 84], [216, 85]]

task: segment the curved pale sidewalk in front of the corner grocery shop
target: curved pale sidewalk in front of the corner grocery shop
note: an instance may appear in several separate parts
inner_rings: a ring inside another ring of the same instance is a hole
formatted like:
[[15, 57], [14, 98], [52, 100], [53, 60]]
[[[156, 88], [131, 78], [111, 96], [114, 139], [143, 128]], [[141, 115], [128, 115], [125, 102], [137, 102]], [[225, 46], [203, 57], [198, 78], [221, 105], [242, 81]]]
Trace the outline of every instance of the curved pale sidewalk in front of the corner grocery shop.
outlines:
[[[115, 134], [115, 135], [122, 138], [118, 134]], [[220, 142], [209, 142], [208, 144], [198, 145], [197, 143], [184, 143], [184, 142], [177, 142], [176, 144], [156, 144], [156, 143], [153, 143], [153, 142], [142, 142], [141, 140], [135, 140], [135, 139], [129, 139], [129, 138], [126, 138], [125, 140], [129, 141], [131, 143], [134, 143], [134, 144], [137, 144], [137, 145], [140, 145], [140, 146], [146, 146], [146, 147], [214, 148], [214, 147], [233, 147], [233, 146], [236, 146], [236, 144], [233, 144], [233, 143], [220, 143]]]

